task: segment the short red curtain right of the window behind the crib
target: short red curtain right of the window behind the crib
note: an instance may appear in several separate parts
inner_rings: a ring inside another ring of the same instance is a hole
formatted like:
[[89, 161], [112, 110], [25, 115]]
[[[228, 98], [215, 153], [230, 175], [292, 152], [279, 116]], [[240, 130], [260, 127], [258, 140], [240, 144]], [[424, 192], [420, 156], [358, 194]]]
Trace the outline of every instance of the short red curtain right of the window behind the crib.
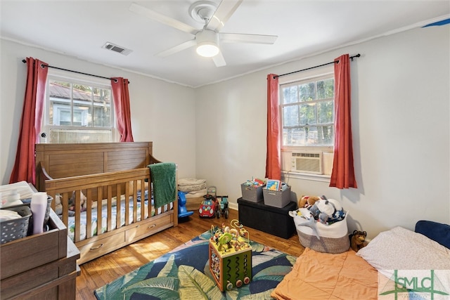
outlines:
[[129, 105], [128, 79], [122, 77], [111, 78], [114, 97], [114, 110], [117, 119], [117, 129], [121, 142], [132, 142], [131, 110]]

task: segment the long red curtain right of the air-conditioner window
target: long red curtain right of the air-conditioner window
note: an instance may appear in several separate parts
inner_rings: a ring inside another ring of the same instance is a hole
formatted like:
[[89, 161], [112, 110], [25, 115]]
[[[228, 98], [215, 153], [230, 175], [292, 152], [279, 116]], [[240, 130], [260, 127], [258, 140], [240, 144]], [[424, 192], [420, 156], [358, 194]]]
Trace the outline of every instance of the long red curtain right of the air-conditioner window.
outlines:
[[330, 187], [357, 188], [354, 177], [350, 61], [345, 54], [335, 59], [335, 148]]

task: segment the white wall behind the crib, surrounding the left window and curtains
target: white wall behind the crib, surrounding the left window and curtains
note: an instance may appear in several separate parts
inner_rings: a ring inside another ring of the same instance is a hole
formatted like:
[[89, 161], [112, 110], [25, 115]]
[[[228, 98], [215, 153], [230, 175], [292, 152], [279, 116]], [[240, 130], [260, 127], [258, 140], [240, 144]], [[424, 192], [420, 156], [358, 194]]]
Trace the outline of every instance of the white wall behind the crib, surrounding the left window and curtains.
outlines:
[[179, 165], [180, 177], [195, 177], [195, 98], [186, 86], [89, 63], [13, 41], [0, 48], [0, 182], [7, 184], [18, 145], [26, 65], [33, 57], [49, 65], [103, 77], [128, 78], [134, 141], [153, 141], [153, 155]]

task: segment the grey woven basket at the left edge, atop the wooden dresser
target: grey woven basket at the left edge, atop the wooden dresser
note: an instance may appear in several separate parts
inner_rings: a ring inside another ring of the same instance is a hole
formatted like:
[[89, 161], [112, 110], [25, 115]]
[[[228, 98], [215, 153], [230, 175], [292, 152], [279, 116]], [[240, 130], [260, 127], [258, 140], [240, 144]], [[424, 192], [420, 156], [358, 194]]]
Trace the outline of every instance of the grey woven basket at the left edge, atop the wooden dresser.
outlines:
[[26, 205], [8, 207], [6, 209], [17, 211], [17, 213], [22, 217], [0, 223], [0, 244], [5, 244], [6, 242], [11, 242], [13, 240], [18, 240], [22, 237], [26, 237], [28, 232], [28, 223], [30, 221], [30, 216], [32, 215], [30, 207], [27, 207]]

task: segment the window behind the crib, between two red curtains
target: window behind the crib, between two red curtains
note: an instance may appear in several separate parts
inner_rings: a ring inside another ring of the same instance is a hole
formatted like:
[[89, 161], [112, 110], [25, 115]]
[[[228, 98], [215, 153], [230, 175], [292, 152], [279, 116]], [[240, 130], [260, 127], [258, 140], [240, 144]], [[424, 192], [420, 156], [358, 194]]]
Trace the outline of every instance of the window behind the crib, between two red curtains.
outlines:
[[110, 82], [50, 74], [46, 86], [46, 143], [115, 141]]

